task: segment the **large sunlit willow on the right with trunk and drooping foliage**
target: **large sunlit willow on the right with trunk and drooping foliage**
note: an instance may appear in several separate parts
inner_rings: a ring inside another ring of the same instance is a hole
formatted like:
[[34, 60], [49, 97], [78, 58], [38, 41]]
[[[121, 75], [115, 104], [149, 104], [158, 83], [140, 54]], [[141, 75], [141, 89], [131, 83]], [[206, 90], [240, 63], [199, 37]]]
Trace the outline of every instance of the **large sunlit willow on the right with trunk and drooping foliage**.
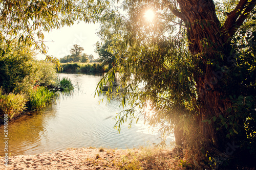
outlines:
[[[109, 48], [114, 67], [99, 86], [118, 72], [124, 90], [106, 95], [131, 106], [119, 113], [116, 127], [142, 116], [217, 163], [230, 144], [236, 154], [255, 151], [255, 4], [133, 0], [104, 15], [99, 35], [118, 40]], [[145, 19], [148, 9], [152, 21]]]

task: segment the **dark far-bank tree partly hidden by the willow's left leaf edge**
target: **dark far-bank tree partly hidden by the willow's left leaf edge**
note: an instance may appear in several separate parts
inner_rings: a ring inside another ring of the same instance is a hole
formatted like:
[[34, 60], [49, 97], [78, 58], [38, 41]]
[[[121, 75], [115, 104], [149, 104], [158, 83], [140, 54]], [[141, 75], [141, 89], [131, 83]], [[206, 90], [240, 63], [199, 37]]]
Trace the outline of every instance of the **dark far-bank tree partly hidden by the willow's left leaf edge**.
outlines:
[[115, 56], [109, 51], [112, 41], [105, 41], [103, 45], [99, 42], [96, 43], [95, 52], [99, 55], [99, 61], [103, 64], [108, 64], [109, 69], [113, 67]]

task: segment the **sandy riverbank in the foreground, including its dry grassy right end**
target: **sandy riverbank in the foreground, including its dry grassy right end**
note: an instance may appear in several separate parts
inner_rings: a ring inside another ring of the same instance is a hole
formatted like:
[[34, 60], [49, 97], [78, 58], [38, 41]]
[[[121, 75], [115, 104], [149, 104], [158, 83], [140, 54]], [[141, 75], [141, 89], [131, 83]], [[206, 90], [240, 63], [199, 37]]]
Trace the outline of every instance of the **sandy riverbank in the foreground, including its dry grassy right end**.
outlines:
[[184, 169], [172, 150], [80, 148], [0, 158], [0, 169]]

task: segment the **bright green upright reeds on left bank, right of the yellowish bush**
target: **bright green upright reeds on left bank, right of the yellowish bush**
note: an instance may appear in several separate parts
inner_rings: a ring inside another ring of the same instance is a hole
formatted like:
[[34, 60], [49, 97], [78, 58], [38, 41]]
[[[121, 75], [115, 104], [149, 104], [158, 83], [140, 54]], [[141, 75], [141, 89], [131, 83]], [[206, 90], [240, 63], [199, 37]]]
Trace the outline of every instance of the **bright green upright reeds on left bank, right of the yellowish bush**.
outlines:
[[30, 91], [28, 109], [38, 110], [46, 107], [52, 102], [56, 94], [50, 91], [46, 87], [35, 86], [33, 90]]

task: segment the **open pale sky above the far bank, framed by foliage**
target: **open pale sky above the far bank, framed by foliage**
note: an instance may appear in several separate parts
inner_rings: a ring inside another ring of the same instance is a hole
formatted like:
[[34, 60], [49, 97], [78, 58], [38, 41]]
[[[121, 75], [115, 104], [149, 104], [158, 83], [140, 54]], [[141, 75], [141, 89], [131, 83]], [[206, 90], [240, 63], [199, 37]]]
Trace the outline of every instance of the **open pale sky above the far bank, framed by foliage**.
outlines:
[[[84, 48], [83, 53], [92, 54], [94, 58], [98, 55], [94, 52], [94, 44], [100, 41], [96, 35], [99, 29], [99, 23], [83, 23], [74, 24], [71, 27], [63, 27], [59, 30], [52, 30], [50, 33], [44, 33], [45, 44], [48, 46], [48, 55], [63, 58], [70, 54], [70, 50], [74, 44], [78, 44]], [[45, 55], [37, 54], [38, 60], [45, 59]]]

